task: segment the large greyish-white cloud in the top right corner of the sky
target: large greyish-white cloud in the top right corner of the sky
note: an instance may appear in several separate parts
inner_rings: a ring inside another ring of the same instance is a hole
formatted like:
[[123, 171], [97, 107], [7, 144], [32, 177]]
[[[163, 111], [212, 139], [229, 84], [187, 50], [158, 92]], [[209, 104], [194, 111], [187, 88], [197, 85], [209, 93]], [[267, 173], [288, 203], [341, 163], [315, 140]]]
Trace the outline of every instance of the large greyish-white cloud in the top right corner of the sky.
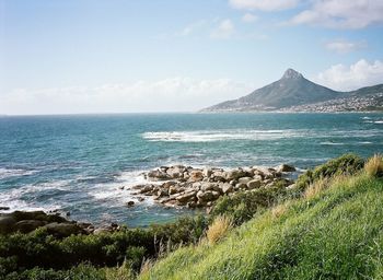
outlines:
[[332, 28], [363, 28], [382, 22], [382, 0], [314, 0], [311, 9], [290, 21]]

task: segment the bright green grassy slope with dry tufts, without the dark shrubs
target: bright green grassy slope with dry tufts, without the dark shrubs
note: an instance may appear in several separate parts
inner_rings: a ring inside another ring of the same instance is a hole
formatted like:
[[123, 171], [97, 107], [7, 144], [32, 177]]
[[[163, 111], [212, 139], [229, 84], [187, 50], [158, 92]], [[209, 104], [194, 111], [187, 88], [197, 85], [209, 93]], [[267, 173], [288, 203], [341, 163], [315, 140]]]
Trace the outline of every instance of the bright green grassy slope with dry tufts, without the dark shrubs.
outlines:
[[159, 260], [140, 279], [383, 279], [383, 182], [336, 180], [259, 213], [221, 242]]

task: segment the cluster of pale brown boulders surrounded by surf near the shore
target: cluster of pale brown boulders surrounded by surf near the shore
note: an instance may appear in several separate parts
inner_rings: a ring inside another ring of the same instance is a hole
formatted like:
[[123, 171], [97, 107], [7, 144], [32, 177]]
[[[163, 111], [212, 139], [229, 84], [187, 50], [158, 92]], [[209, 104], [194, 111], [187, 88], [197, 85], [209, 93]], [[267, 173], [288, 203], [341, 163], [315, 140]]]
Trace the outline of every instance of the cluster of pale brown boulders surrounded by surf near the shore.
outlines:
[[[194, 168], [192, 166], [161, 166], [144, 176], [153, 182], [130, 187], [132, 195], [151, 196], [154, 201], [167, 207], [210, 207], [220, 196], [235, 191], [252, 191], [278, 184], [286, 187], [293, 182], [282, 178], [293, 166], [282, 164], [276, 168]], [[162, 182], [162, 183], [161, 183]]]

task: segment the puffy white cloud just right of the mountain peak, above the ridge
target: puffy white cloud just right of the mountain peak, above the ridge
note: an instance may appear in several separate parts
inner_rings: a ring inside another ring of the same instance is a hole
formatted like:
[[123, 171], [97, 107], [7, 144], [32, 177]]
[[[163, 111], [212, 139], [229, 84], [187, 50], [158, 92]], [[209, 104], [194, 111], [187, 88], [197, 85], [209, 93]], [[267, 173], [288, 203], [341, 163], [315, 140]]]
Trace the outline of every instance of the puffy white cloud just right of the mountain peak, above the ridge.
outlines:
[[360, 59], [349, 67], [335, 65], [318, 73], [315, 82], [338, 91], [357, 90], [383, 83], [383, 61], [369, 62]]

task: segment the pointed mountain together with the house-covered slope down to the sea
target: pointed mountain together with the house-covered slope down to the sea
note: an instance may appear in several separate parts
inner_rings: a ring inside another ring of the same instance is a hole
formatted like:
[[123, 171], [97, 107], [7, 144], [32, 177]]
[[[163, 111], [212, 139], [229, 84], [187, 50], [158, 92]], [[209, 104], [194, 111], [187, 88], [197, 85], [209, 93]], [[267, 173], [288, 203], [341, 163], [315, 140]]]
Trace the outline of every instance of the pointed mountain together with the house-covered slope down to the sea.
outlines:
[[[337, 92], [305, 79], [301, 73], [288, 69], [283, 77], [251, 94], [234, 101], [227, 101], [201, 112], [339, 112], [339, 110], [371, 110], [383, 106], [381, 95], [383, 84], [362, 88], [352, 92]], [[359, 98], [363, 100], [363, 107], [358, 105]], [[333, 104], [349, 102], [351, 106], [332, 107]], [[311, 105], [310, 109], [304, 106]], [[323, 107], [326, 107], [323, 109]]]

